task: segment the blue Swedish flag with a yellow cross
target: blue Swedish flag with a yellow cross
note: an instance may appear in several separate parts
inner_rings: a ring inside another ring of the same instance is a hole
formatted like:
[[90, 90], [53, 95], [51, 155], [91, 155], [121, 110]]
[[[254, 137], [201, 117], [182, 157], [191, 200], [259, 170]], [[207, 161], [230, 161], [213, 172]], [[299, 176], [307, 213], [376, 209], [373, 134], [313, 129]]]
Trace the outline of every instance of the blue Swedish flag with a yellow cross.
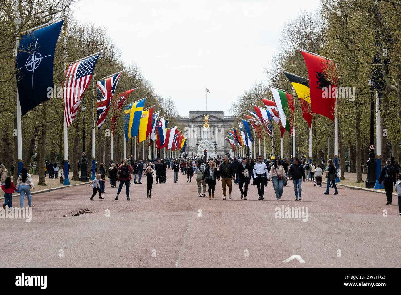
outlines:
[[138, 136], [139, 123], [144, 110], [145, 98], [124, 107], [124, 132], [126, 139]]

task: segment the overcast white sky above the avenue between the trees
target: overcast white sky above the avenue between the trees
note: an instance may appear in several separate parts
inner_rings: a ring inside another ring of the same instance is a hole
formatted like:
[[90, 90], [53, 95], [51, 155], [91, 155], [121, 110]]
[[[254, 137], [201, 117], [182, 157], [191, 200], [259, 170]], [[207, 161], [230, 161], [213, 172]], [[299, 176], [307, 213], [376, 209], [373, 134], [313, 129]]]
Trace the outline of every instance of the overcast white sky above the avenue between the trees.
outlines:
[[[223, 110], [265, 80], [283, 25], [319, 0], [81, 0], [73, 14], [107, 27], [126, 65], [138, 63], [181, 116]], [[132, 85], [134, 87], [136, 85]]]

